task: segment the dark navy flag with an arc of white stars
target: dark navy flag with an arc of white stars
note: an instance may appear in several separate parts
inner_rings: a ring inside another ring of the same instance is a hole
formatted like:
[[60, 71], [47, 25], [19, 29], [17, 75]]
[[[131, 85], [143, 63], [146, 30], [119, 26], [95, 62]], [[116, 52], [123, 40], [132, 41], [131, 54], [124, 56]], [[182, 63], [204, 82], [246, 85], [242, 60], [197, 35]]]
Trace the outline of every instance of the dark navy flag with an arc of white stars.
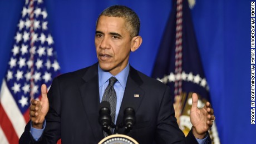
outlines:
[[[199, 108], [204, 107], [206, 101], [210, 101], [209, 85], [201, 64], [189, 8], [194, 4], [189, 4], [188, 0], [173, 1], [152, 72], [152, 77], [171, 87], [175, 117], [185, 135], [192, 127], [189, 117], [192, 93], [199, 95]], [[220, 143], [215, 121], [209, 133], [213, 143]]]

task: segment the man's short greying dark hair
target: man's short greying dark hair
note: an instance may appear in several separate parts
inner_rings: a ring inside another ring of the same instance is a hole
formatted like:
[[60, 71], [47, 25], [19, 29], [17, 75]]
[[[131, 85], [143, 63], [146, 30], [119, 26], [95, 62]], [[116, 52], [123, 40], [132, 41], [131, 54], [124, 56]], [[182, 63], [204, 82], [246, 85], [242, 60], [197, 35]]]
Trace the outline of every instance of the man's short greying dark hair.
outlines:
[[131, 8], [117, 5], [108, 7], [98, 17], [96, 25], [98, 24], [101, 16], [124, 18], [127, 31], [130, 32], [130, 37], [133, 38], [135, 36], [139, 36], [140, 19]]

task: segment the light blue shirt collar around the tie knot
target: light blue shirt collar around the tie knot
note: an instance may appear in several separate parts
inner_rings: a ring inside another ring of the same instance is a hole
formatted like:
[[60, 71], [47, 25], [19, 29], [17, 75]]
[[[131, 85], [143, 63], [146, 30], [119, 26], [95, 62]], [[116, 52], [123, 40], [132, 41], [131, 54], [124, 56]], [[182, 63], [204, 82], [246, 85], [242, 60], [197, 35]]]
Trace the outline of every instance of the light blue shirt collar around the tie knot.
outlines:
[[[124, 88], [124, 90], [127, 82], [127, 77], [129, 75], [129, 71], [130, 71], [130, 65], [128, 63], [127, 66], [115, 76], [118, 82], [120, 83], [120, 85], [122, 86], [122, 88]], [[110, 77], [113, 76], [111, 75], [111, 73], [103, 71], [100, 68], [99, 64], [98, 64], [98, 73], [99, 73], [99, 87], [101, 87], [105, 82], [109, 80]]]

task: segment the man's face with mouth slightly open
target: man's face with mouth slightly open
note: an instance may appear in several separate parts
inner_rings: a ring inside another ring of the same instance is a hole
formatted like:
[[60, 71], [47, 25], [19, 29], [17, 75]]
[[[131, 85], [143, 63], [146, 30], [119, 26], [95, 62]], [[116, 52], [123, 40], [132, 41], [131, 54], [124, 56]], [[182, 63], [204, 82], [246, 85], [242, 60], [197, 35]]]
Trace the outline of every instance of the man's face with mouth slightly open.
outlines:
[[101, 16], [96, 26], [95, 46], [100, 68], [117, 75], [127, 66], [132, 47], [125, 19]]

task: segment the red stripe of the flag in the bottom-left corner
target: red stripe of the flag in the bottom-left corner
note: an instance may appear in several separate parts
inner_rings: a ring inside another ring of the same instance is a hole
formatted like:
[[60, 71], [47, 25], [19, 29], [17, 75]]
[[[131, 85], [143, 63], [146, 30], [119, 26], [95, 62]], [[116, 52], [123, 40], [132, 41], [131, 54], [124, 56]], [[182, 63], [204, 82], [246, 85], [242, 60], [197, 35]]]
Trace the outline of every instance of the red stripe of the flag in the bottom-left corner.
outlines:
[[0, 125], [9, 143], [18, 143], [19, 138], [0, 103]]

